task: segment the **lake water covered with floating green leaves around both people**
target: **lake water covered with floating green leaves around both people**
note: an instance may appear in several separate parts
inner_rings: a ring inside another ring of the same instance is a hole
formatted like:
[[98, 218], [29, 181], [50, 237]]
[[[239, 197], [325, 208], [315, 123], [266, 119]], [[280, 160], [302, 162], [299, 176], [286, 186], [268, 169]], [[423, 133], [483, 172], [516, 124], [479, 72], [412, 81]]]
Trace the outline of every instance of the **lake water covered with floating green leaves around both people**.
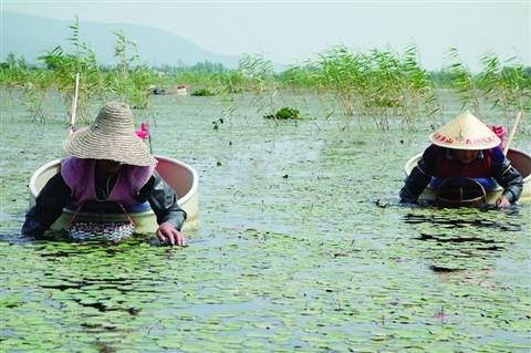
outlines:
[[[0, 350], [529, 349], [531, 207], [397, 206], [403, 166], [431, 122], [382, 132], [325, 118], [325, 97], [279, 95], [277, 108], [314, 120], [275, 126], [262, 118], [268, 100], [247, 95], [215, 131], [229, 105], [219, 97], [153, 100], [135, 114], [154, 153], [200, 176], [200, 226], [185, 249], [22, 241], [28, 180], [63, 156], [69, 105], [52, 102], [46, 123], [14, 102], [2, 108]], [[458, 108], [448, 103], [445, 118]], [[512, 146], [531, 150], [529, 136]]]

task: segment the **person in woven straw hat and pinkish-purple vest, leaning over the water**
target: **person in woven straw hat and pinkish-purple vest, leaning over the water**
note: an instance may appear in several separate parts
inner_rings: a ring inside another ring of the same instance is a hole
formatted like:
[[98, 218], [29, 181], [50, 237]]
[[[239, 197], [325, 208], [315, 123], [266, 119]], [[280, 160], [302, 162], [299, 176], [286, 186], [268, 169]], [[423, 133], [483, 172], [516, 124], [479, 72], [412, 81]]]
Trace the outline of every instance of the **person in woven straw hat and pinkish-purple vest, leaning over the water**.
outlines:
[[126, 104], [106, 103], [94, 123], [71, 134], [63, 147], [69, 156], [27, 214], [23, 236], [42, 238], [69, 204], [77, 208], [92, 201], [148, 201], [157, 217], [157, 238], [185, 245], [180, 229], [187, 214], [177, 204], [175, 190], [155, 169], [157, 159], [136, 135]]

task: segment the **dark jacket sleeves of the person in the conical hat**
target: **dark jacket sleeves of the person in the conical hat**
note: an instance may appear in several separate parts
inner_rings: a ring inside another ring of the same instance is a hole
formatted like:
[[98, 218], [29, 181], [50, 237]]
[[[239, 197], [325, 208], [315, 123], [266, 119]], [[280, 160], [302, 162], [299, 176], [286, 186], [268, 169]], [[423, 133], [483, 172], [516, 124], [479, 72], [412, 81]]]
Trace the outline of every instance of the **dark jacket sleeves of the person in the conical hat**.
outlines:
[[[437, 169], [437, 156], [440, 156], [440, 152], [436, 150], [437, 148], [441, 147], [429, 146], [426, 148], [417, 166], [406, 177], [405, 185], [399, 194], [402, 203], [416, 203], [420, 194], [431, 181], [431, 177], [439, 177], [435, 172]], [[441, 149], [451, 157], [451, 149]], [[503, 188], [503, 195], [511, 204], [518, 201], [523, 189], [523, 179], [520, 173], [511, 166], [511, 162], [506, 158], [499, 147], [481, 150], [481, 155], [485, 158], [489, 158], [490, 172], [488, 175], [476, 175], [473, 177], [493, 178]]]

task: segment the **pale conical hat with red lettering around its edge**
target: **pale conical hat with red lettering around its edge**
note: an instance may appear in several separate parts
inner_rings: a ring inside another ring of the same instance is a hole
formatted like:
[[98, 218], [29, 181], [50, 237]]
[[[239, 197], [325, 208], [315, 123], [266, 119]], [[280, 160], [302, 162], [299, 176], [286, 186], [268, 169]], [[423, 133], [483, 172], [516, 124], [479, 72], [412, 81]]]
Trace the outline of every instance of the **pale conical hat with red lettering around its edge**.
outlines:
[[501, 143], [496, 133], [469, 111], [433, 133], [429, 139], [437, 146], [454, 149], [489, 149]]

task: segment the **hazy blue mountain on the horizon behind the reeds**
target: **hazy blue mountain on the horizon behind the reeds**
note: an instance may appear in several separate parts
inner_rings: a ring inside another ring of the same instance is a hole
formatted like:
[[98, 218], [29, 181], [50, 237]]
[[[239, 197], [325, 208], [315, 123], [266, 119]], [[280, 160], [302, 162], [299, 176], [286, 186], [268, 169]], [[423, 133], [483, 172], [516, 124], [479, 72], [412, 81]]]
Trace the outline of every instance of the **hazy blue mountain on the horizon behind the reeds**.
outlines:
[[[1, 13], [1, 52], [0, 62], [4, 62], [9, 53], [18, 51], [28, 63], [38, 63], [37, 58], [45, 51], [62, 45], [66, 52], [74, 48], [66, 41], [72, 35], [69, 28], [72, 21], [59, 21], [43, 17], [15, 12]], [[122, 30], [126, 40], [136, 42], [140, 62], [149, 66], [191, 66], [198, 62], [221, 63], [225, 68], [236, 69], [241, 58], [208, 52], [186, 39], [170, 32], [128, 23], [85, 22], [80, 18], [80, 39], [86, 42], [96, 53], [98, 63], [113, 65], [116, 35]], [[128, 52], [128, 56], [133, 55]]]

